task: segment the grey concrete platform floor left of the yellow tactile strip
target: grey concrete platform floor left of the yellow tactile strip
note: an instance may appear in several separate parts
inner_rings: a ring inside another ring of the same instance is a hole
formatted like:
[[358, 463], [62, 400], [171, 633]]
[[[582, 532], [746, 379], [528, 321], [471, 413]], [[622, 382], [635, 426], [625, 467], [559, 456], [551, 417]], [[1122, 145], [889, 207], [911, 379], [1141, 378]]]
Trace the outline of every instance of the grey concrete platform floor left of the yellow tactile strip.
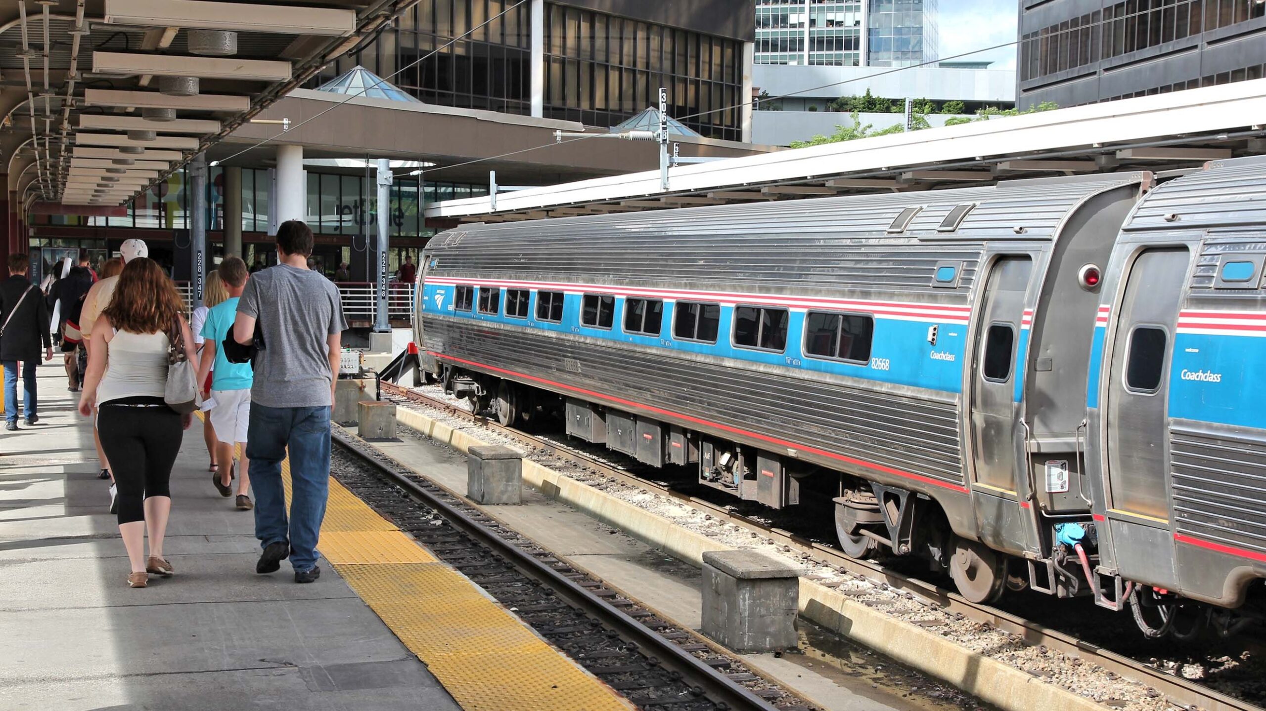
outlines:
[[253, 515], [211, 487], [197, 421], [172, 472], [176, 576], [128, 588], [77, 395], [54, 366], [39, 395], [41, 424], [0, 431], [0, 708], [457, 708], [329, 566], [254, 573]]

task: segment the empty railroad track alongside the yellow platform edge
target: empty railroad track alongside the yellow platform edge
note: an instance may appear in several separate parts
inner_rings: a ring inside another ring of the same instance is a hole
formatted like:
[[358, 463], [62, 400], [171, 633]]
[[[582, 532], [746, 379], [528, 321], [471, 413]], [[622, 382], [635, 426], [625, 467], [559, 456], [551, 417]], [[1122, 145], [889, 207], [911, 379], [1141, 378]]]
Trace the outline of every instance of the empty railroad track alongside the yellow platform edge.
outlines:
[[333, 440], [333, 471], [344, 486], [638, 707], [809, 711], [737, 657], [658, 619], [342, 428]]

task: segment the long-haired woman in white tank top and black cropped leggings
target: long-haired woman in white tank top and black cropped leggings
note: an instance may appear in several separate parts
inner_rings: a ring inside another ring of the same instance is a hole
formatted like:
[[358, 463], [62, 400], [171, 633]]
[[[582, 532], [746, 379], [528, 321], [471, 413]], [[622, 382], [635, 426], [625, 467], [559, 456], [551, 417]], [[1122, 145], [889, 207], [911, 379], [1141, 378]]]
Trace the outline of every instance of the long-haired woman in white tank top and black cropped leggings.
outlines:
[[119, 534], [132, 564], [130, 587], [146, 587], [148, 573], [166, 577], [175, 572], [162, 544], [171, 514], [171, 468], [191, 416], [177, 415], [163, 401], [170, 338], [180, 333], [186, 357], [197, 364], [181, 311], [167, 275], [153, 261], [138, 257], [123, 268], [110, 305], [92, 325], [94, 347], [78, 410], [91, 416], [97, 407], [101, 448], [119, 492]]

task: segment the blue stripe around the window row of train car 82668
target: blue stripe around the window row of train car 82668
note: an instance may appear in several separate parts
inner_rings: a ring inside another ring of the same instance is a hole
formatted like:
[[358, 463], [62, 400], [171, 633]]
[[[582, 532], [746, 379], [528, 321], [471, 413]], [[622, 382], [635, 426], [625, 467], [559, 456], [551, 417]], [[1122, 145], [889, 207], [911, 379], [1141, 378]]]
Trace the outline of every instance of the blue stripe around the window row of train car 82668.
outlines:
[[[581, 296], [567, 294], [563, 299], [563, 318], [561, 324], [536, 319], [537, 292], [532, 291], [532, 302], [527, 319], [514, 319], [504, 314], [491, 315], [477, 311], [458, 312], [453, 310], [453, 286], [427, 283], [423, 290], [422, 307], [428, 312], [442, 312], [448, 316], [471, 319], [473, 321], [492, 321], [511, 326], [530, 328], [553, 333], [567, 333], [611, 340], [667, 348], [686, 353], [703, 353], [723, 358], [733, 358], [749, 363], [784, 366], [801, 371], [830, 373], [844, 377], [865, 378], [875, 382], [905, 385], [958, 393], [962, 391], [962, 354], [965, 350], [966, 324], [947, 324], [938, 321], [905, 321], [899, 319], [875, 318], [875, 331], [871, 342], [868, 363], [825, 361], [805, 357], [803, 353], [804, 316], [803, 311], [791, 311], [787, 324], [787, 345], [782, 353], [738, 348], [730, 344], [730, 324], [733, 307], [722, 306], [719, 337], [715, 344], [680, 340], [672, 337], [672, 304], [665, 302], [660, 338], [623, 333], [622, 316], [624, 297], [615, 297], [614, 324], [611, 329], [596, 329], [580, 325]], [[477, 294], [477, 292], [476, 292]], [[475, 300], [477, 304], [477, 297]], [[504, 310], [505, 294], [501, 294]], [[438, 307], [438, 311], [437, 311]], [[928, 329], [937, 325], [937, 343], [932, 345]], [[1023, 362], [1023, 354], [1019, 356]]]

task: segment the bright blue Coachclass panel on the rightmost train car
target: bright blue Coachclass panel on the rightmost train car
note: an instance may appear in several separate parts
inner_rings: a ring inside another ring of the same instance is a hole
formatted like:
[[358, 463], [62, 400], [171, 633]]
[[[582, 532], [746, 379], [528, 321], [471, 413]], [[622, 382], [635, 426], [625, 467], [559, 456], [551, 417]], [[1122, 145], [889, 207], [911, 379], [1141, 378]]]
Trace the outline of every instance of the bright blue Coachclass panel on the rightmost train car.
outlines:
[[1169, 414], [1266, 429], [1266, 338], [1176, 334]]

